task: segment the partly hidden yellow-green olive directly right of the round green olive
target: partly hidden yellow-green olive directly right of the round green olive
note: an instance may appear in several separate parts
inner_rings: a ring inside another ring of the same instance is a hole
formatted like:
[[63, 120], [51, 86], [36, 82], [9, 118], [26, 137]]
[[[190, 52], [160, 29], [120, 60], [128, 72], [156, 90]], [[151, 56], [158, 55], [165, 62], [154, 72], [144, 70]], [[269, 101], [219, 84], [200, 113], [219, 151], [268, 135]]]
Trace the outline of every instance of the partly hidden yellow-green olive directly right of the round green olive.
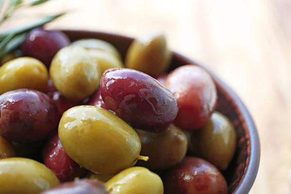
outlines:
[[118, 60], [116, 57], [108, 52], [95, 49], [90, 49], [88, 50], [88, 52], [92, 59], [99, 65], [101, 74], [103, 74], [103, 72], [109, 68], [124, 67], [120, 60]]

